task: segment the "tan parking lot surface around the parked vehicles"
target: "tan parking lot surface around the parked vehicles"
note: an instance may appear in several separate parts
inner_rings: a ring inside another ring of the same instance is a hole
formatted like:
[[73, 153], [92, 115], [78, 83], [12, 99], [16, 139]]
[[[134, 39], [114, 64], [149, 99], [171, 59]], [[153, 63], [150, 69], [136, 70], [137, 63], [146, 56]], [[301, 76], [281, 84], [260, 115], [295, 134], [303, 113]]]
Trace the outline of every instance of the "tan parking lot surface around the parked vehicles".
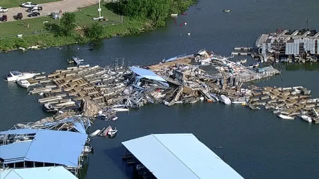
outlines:
[[[52, 3], [45, 3], [45, 4], [39, 4], [39, 6], [43, 7], [43, 10], [40, 12], [41, 16], [50, 15], [51, 12], [59, 12], [60, 10], [62, 12], [66, 11], [76, 11], [77, 8], [80, 7], [86, 7], [90, 5], [97, 4], [97, 0], [64, 0], [64, 1], [58, 1], [58, 2], [52, 2]], [[15, 19], [13, 16], [16, 16], [18, 12], [22, 12], [23, 19], [27, 19], [27, 15], [29, 12], [27, 12], [28, 8], [22, 8], [22, 7], [13, 7], [8, 8], [8, 11], [5, 13], [0, 13], [0, 16], [3, 14], [6, 14], [8, 16], [8, 21], [14, 21]]]

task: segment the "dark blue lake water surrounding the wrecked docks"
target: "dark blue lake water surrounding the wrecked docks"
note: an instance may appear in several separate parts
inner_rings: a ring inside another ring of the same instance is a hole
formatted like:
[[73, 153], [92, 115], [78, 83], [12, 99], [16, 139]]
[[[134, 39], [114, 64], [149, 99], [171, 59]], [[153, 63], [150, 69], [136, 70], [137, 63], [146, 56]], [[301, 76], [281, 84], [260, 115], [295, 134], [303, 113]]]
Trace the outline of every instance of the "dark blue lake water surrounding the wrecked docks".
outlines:
[[[192, 54], [206, 48], [228, 56], [234, 46], [254, 46], [260, 33], [287, 29], [319, 29], [319, 4], [315, 0], [199, 0], [186, 11], [187, 16], [167, 20], [167, 25], [152, 32], [124, 38], [101, 40], [93, 50], [87, 44], [63, 47], [62, 50], [11, 52], [0, 54], [2, 75], [11, 70], [53, 71], [65, 68], [72, 55], [91, 65], [105, 65], [111, 57], [126, 56], [138, 64], [160, 61], [178, 54]], [[204, 8], [204, 10], [197, 10]], [[232, 10], [223, 13], [223, 9]], [[306, 23], [309, 19], [308, 24]], [[187, 26], [179, 26], [187, 22]], [[191, 35], [188, 36], [187, 33]], [[182, 34], [182, 35], [180, 35]], [[79, 48], [79, 49], [78, 49]], [[305, 86], [319, 97], [317, 64], [279, 65], [282, 78], [258, 82], [259, 86]], [[48, 117], [38, 97], [26, 95], [26, 89], [15, 83], [0, 81], [0, 130], [18, 122], [37, 121]], [[85, 179], [131, 178], [122, 163], [121, 142], [151, 133], [193, 133], [207, 147], [244, 178], [307, 178], [319, 177], [319, 125], [301, 120], [283, 120], [270, 111], [251, 111], [241, 105], [197, 103], [166, 107], [146, 105], [139, 110], [118, 113], [115, 122], [96, 121], [92, 130], [116, 125], [115, 139], [94, 138], [94, 154], [85, 166]], [[223, 146], [222, 149], [213, 149]]]

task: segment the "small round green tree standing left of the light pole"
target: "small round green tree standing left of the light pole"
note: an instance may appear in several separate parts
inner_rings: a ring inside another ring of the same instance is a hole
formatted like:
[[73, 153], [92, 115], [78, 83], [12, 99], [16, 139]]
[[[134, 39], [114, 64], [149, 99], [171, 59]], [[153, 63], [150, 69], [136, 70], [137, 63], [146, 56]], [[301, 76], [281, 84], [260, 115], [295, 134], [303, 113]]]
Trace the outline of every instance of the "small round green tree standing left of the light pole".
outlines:
[[60, 35], [69, 36], [73, 34], [77, 26], [75, 14], [73, 12], [65, 12], [61, 18], [58, 32]]

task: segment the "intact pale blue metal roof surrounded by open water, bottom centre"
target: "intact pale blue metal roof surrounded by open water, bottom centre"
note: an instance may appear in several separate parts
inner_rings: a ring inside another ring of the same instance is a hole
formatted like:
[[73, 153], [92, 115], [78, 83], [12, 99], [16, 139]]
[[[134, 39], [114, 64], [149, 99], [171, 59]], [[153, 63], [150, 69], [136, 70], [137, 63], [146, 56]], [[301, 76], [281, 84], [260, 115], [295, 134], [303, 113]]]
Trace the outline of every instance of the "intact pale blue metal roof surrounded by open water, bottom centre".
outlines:
[[122, 144], [158, 179], [244, 179], [193, 134], [151, 134]]

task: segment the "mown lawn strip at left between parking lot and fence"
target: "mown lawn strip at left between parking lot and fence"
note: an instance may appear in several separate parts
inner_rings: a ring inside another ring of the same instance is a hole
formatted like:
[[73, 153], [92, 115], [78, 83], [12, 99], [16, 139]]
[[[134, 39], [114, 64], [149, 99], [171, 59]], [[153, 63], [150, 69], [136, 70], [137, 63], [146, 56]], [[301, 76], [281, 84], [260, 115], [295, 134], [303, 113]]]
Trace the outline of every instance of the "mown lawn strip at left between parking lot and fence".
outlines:
[[[50, 30], [48, 23], [43, 24], [44, 21], [49, 21], [49, 23], [59, 23], [59, 20], [54, 20], [50, 17], [40, 17], [26, 20], [18, 20], [13, 22], [0, 23], [0, 37], [6, 35], [30, 33], [30, 32], [41, 32], [45, 29]], [[29, 24], [29, 28], [27, 25]], [[47, 25], [48, 27], [46, 28]]]

